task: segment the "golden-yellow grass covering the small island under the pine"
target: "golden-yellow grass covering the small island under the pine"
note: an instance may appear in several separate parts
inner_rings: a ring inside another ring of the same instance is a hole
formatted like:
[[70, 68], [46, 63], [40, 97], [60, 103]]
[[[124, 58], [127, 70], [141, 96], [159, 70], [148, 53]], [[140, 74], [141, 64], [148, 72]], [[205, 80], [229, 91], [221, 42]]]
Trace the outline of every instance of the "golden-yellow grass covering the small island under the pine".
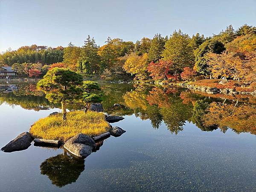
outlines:
[[65, 121], [62, 119], [61, 113], [39, 119], [29, 132], [35, 138], [67, 141], [79, 133], [93, 137], [108, 130], [109, 124], [103, 113], [71, 111], [67, 113]]

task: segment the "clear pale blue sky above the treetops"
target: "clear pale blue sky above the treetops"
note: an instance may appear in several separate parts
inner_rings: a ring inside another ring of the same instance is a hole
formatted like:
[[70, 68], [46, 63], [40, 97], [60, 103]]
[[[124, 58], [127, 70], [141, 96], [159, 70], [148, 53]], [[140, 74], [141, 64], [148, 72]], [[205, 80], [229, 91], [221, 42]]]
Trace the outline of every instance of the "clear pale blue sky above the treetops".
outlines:
[[0, 0], [0, 51], [24, 45], [81, 46], [87, 35], [136, 41], [175, 29], [218, 34], [256, 26], [256, 0]]

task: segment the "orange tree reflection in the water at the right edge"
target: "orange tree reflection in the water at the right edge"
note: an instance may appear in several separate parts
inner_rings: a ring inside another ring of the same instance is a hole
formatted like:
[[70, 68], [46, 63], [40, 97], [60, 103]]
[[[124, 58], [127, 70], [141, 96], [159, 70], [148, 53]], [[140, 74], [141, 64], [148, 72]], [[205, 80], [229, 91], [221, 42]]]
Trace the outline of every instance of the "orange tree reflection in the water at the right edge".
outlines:
[[256, 134], [256, 105], [212, 102], [208, 112], [203, 117], [206, 126], [218, 125], [223, 131], [231, 128], [236, 133]]

